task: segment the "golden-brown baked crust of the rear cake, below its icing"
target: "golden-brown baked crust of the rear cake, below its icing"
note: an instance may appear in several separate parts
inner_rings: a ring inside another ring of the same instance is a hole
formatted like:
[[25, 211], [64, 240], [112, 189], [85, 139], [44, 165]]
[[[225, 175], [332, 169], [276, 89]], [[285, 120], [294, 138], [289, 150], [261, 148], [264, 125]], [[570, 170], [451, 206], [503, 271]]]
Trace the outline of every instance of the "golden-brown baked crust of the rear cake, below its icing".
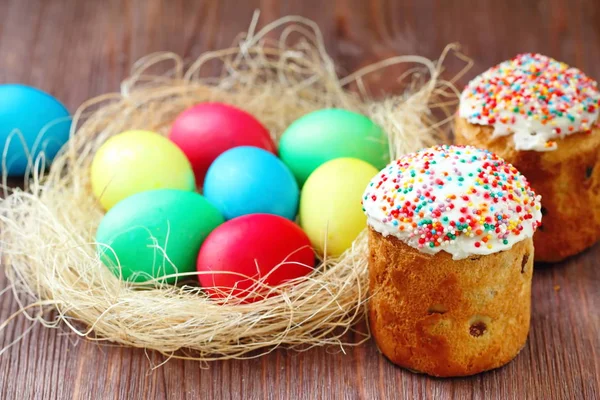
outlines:
[[542, 196], [535, 260], [556, 262], [600, 240], [600, 128], [564, 137], [554, 151], [520, 151], [511, 135], [469, 123], [458, 114], [455, 142], [485, 148], [514, 165]]

